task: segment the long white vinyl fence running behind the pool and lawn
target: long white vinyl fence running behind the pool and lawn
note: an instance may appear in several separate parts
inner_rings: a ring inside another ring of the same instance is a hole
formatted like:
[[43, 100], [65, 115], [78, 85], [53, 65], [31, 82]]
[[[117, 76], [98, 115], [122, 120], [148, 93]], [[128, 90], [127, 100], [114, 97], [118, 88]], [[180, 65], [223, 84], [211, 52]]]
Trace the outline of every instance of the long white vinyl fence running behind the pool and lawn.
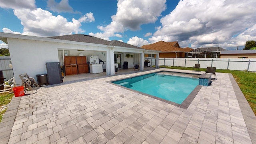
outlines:
[[221, 70], [256, 72], [256, 59], [253, 58], [159, 58], [159, 66], [194, 67], [195, 64], [200, 64], [200, 68], [213, 66]]

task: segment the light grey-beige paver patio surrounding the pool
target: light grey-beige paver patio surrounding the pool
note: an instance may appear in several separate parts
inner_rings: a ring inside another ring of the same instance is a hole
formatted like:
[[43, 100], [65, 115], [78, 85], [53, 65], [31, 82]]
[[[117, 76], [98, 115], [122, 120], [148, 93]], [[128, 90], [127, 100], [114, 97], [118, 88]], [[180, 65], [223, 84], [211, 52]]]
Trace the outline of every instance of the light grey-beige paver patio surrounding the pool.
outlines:
[[231, 74], [217, 73], [187, 109], [110, 80], [76, 80], [14, 97], [0, 123], [1, 144], [256, 144], [256, 117]]

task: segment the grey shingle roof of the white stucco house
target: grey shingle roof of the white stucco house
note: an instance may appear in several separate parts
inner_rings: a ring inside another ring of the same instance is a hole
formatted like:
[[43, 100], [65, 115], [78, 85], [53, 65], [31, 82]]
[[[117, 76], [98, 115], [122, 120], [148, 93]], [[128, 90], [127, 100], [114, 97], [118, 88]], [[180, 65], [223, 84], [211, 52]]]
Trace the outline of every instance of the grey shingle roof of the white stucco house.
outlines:
[[72, 35], [65, 35], [65, 36], [52, 36], [48, 38], [54, 38], [58, 40], [70, 40], [70, 41], [75, 41], [75, 42], [88, 42], [88, 43], [93, 43], [93, 44], [106, 44], [109, 46], [121, 46], [121, 47], [126, 47], [126, 48], [138, 48], [138, 49], [143, 49], [138, 46], [133, 46], [131, 44], [127, 44], [124, 42], [120, 42], [117, 40], [103, 40], [101, 38], [97, 38], [94, 36], [89, 36], [85, 34], [72, 34]]

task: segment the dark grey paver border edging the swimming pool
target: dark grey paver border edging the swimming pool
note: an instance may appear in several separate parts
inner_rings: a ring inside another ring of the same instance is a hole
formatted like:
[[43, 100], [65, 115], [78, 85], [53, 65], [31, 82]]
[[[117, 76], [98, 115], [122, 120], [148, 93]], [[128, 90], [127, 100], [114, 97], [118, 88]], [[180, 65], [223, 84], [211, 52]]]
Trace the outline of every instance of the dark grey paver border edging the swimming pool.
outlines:
[[[150, 73], [148, 73], [148, 74], [159, 73], [159, 72], [173, 72], [173, 71], [162, 70], [162, 71], [158, 71], [158, 72], [150, 72]], [[174, 72], [174, 73], [193, 74], [193, 73], [186, 73], [186, 72]], [[143, 75], [145, 75], [145, 74], [139, 74], [139, 75], [130, 76], [130, 77], [127, 77], [127, 78], [132, 78], [132, 77], [137, 77], [137, 76], [143, 76]], [[200, 76], [200, 74], [195, 74], [195, 75]], [[127, 79], [127, 78], [120, 78], [120, 79], [117, 79], [117, 80], [114, 80], [114, 81], [124, 80], [124, 79]], [[156, 97], [156, 96], [152, 96], [152, 95], [146, 94], [146, 93], [144, 93], [144, 92], [139, 92], [139, 91], [137, 91], [137, 90], [133, 90], [133, 89], [126, 88], [126, 87], [121, 86], [121, 85], [118, 85], [118, 84], [114, 84], [114, 83], [113, 83], [113, 80], [107, 81], [107, 83], [113, 84], [113, 85], [118, 86], [118, 87], [121, 87], [121, 88], [124, 88], [124, 89], [126, 89], [126, 90], [130, 90], [130, 91], [132, 91], [132, 92], [137, 92], [137, 93], [139, 93], [139, 94], [143, 94], [143, 95], [148, 96], [148, 97], [150, 97], [150, 98], [154, 98], [154, 99], [156, 99], [156, 100], [160, 100], [160, 101], [162, 101], [162, 102], [166, 102], [167, 104], [172, 104], [172, 105], [174, 105], [174, 106], [178, 106], [178, 107], [184, 108], [184, 109], [187, 109], [187, 108], [188, 108], [188, 106], [191, 104], [191, 102], [194, 100], [194, 98], [196, 97], [196, 95], [198, 94], [198, 92], [200, 91], [200, 89], [202, 88], [202, 86], [198, 84], [198, 85], [196, 86], [196, 88], [194, 88], [194, 90], [192, 90], [192, 92], [186, 97], [186, 99], [185, 99], [181, 104], [177, 104], [176, 102], [171, 102], [171, 101], [169, 101], [169, 100], [164, 100], [164, 99], [162, 99], [162, 98], [158, 98], [158, 97]]]

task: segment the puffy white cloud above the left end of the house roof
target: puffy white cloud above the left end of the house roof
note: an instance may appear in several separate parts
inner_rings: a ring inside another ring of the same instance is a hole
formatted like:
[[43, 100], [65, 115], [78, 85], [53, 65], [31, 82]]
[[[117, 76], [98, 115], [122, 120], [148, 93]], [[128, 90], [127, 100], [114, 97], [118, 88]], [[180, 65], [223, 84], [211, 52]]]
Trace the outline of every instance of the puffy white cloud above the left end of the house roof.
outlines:
[[41, 8], [36, 10], [16, 9], [14, 15], [21, 20], [21, 24], [24, 26], [22, 34], [26, 35], [59, 36], [84, 32], [80, 29], [81, 23], [78, 20], [73, 18], [72, 22], [68, 22], [63, 16], [53, 16], [52, 13]]

